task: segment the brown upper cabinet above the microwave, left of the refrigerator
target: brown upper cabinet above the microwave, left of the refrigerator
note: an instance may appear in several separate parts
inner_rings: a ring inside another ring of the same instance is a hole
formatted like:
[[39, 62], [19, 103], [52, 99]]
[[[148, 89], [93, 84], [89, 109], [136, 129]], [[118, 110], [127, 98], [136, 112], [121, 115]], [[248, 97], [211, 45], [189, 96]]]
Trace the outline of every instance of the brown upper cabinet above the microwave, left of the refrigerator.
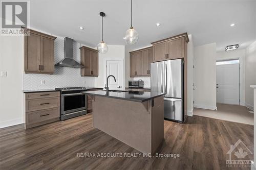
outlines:
[[152, 47], [130, 52], [130, 77], [149, 76], [150, 64], [153, 62]]

